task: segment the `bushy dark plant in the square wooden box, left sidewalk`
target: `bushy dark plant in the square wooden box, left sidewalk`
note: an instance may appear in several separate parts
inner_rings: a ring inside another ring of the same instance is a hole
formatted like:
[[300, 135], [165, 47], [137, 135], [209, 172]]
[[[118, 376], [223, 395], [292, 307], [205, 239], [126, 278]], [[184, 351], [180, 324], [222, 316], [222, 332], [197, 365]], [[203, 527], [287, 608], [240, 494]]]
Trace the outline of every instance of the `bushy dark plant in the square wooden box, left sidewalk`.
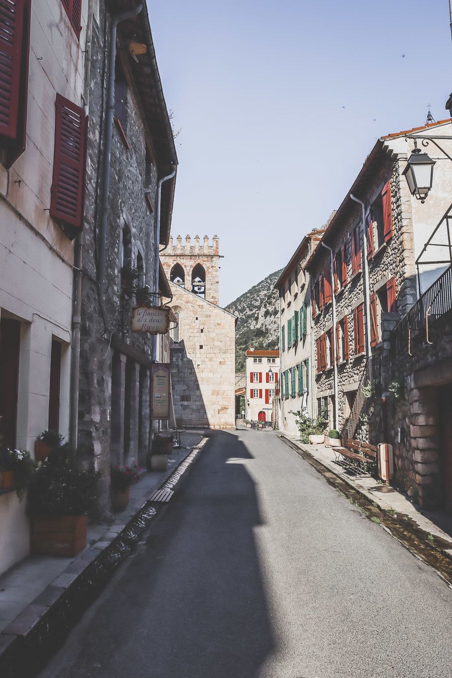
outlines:
[[87, 512], [99, 479], [100, 472], [77, 467], [66, 445], [36, 469], [26, 506], [31, 553], [75, 556], [85, 549]]

